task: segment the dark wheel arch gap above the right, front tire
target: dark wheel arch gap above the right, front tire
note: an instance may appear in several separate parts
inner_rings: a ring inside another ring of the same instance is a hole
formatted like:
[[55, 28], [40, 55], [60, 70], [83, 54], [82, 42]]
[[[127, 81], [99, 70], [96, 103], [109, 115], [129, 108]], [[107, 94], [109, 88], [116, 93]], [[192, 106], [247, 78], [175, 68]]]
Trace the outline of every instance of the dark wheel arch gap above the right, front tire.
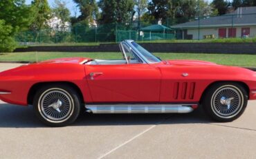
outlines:
[[[230, 82], [231, 84], [232, 84], [232, 83], [233, 83], [233, 84], [239, 84], [240, 86], [242, 86], [242, 87], [245, 89], [247, 95], [250, 94], [250, 88], [249, 88], [248, 85], [247, 85], [246, 83], [244, 83], [244, 82], [238, 82], [238, 81], [216, 81], [216, 82], [212, 82], [211, 84], [209, 84], [209, 85], [205, 88], [205, 90], [203, 91], [203, 94], [201, 95], [199, 104], [201, 104], [201, 102], [203, 101], [203, 98], [205, 97], [205, 93], [206, 93], [212, 86], [214, 86], [215, 84], [228, 83], [228, 82]], [[249, 99], [249, 97], [248, 97], [248, 99]]]

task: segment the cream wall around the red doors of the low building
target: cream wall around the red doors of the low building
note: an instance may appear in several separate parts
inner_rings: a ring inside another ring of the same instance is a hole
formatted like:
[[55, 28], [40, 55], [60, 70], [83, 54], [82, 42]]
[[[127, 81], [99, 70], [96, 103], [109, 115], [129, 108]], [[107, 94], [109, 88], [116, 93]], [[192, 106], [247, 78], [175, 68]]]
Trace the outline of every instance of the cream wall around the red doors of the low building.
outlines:
[[[228, 37], [228, 28], [226, 28], [226, 37]], [[256, 26], [239, 26], [234, 28], [237, 28], [237, 37], [241, 37], [241, 28], [250, 28], [250, 37], [256, 37]], [[198, 29], [188, 29], [188, 35], [193, 35], [193, 39], [198, 39], [198, 32]], [[200, 39], [203, 39], [203, 35], [214, 35], [214, 38], [219, 38], [219, 28], [201, 28]]]

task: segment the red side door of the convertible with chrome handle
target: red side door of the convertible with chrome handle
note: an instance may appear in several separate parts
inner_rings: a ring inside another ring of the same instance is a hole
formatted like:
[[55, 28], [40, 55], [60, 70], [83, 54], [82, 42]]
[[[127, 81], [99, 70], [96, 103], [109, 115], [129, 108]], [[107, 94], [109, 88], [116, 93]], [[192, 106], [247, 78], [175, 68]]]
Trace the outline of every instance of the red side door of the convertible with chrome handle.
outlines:
[[93, 102], [159, 102], [161, 72], [149, 64], [87, 65], [85, 71]]

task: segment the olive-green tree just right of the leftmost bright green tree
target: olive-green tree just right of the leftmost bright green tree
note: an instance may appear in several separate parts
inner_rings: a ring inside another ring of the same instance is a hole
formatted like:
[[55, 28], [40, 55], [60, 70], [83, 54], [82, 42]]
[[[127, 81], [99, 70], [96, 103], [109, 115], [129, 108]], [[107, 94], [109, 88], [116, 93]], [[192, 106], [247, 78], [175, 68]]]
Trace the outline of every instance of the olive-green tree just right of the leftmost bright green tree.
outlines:
[[33, 9], [33, 23], [30, 30], [42, 30], [47, 27], [46, 21], [51, 18], [51, 8], [47, 0], [34, 0], [31, 3]]

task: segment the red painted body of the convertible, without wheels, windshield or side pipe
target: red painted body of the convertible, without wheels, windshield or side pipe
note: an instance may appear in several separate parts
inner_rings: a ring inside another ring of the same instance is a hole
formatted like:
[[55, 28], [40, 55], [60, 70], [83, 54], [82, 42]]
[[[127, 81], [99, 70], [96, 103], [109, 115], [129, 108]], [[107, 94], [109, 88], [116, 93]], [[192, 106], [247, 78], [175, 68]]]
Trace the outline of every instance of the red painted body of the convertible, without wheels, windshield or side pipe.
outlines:
[[[240, 82], [256, 100], [256, 73], [245, 68], [221, 66], [197, 60], [170, 60], [158, 64], [81, 64], [88, 58], [53, 59], [0, 73], [0, 95], [4, 102], [28, 105], [31, 88], [46, 82], [68, 82], [80, 89], [84, 103], [172, 102], [199, 103], [214, 82]], [[93, 80], [91, 72], [104, 72]], [[184, 76], [188, 73], [188, 76]]]

